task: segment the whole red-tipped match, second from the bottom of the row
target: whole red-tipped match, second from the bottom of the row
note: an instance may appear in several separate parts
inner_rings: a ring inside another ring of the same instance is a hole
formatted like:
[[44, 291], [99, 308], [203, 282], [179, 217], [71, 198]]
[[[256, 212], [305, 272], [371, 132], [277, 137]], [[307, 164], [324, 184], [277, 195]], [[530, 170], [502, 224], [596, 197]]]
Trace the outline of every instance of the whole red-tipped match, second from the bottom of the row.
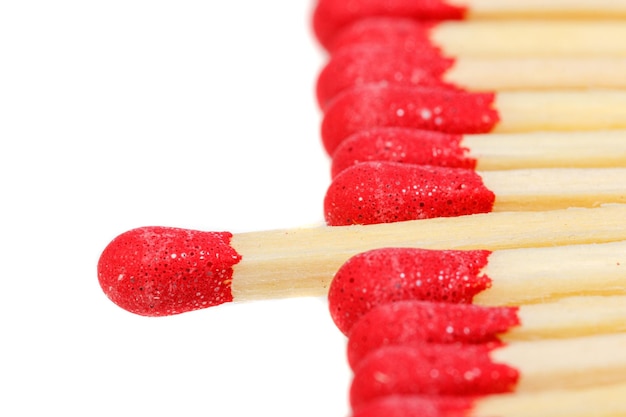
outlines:
[[387, 346], [354, 370], [353, 407], [387, 395], [490, 395], [626, 382], [626, 333], [510, 344]]

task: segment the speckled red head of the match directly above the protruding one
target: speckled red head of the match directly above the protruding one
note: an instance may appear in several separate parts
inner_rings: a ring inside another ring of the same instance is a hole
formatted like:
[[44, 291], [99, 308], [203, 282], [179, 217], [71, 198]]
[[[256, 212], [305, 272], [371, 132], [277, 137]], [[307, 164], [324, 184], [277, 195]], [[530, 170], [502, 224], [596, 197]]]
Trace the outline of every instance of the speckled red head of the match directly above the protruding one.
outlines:
[[474, 170], [364, 162], [333, 179], [324, 214], [330, 226], [393, 223], [488, 213], [494, 202]]

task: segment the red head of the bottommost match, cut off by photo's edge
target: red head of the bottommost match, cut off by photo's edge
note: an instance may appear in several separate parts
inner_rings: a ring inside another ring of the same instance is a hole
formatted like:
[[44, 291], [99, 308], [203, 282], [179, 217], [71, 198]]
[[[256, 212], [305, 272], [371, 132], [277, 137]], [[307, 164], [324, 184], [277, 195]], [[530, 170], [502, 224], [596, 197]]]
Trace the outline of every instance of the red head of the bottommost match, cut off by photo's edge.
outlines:
[[357, 407], [352, 417], [462, 417], [469, 416], [474, 397], [390, 395]]

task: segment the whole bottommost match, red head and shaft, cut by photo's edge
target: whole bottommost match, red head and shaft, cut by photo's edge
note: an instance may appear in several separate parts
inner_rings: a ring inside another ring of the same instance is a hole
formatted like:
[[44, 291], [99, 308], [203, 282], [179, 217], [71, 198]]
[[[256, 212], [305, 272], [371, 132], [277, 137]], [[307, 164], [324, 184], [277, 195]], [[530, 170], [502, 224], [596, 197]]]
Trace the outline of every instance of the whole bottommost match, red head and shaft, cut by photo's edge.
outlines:
[[479, 397], [391, 395], [351, 417], [616, 417], [626, 415], [626, 384]]

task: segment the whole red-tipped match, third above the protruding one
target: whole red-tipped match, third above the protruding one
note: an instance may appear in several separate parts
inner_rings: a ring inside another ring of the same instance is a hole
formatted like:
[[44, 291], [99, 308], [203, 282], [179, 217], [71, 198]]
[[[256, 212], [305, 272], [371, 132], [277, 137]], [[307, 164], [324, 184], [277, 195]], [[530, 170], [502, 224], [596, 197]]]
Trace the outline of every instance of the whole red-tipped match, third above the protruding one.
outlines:
[[626, 90], [477, 93], [369, 84], [326, 107], [322, 143], [332, 155], [350, 135], [377, 127], [459, 134], [624, 129]]

